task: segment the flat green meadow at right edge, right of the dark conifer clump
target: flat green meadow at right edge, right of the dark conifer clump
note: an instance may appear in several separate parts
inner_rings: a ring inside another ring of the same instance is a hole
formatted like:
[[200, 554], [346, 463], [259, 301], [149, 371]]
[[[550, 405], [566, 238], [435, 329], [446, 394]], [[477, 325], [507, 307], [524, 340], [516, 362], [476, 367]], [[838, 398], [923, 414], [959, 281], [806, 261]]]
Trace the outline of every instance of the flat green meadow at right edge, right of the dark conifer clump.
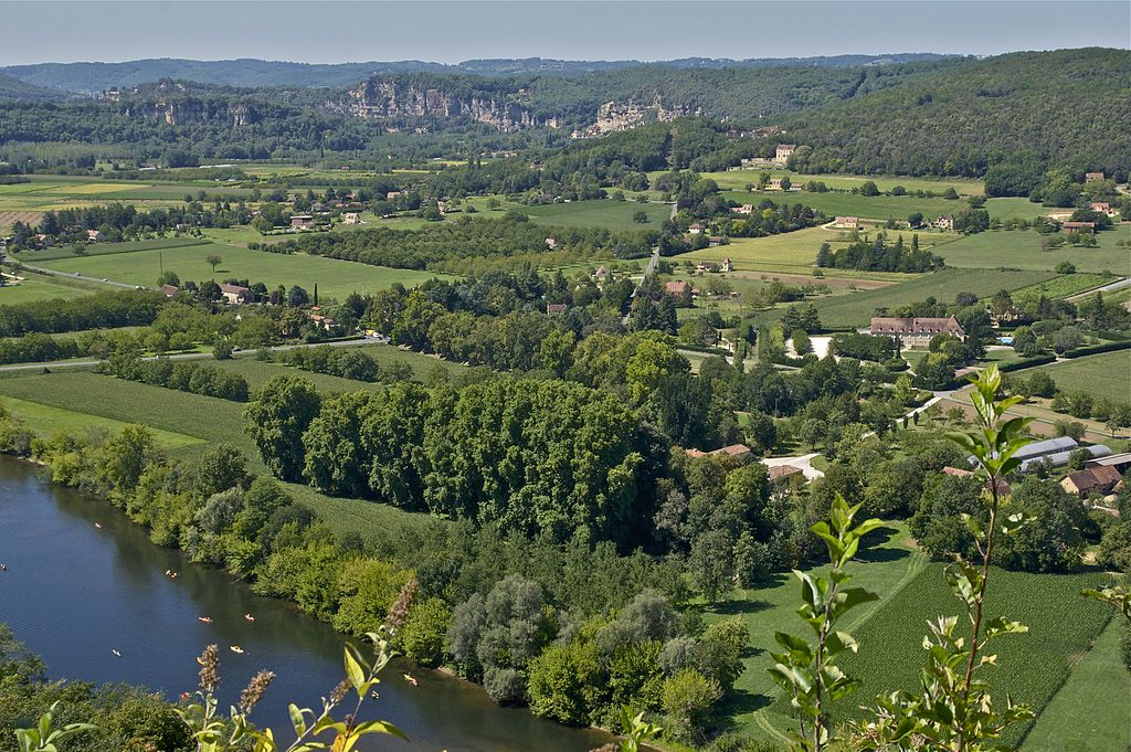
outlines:
[[1096, 248], [1064, 245], [1045, 251], [1041, 248], [1043, 237], [1033, 230], [996, 230], [959, 237], [935, 252], [952, 267], [1052, 269], [1061, 261], [1070, 261], [1080, 271], [1131, 275], [1131, 249], [1115, 245], [1120, 240], [1131, 241], [1131, 224], [1096, 233]]

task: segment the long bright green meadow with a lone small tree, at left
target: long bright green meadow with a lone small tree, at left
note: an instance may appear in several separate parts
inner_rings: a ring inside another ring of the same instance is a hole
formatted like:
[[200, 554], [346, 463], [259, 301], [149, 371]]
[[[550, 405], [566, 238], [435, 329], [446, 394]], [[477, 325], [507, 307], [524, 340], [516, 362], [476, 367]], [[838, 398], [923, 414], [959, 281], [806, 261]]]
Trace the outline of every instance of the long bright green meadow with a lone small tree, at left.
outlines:
[[[223, 261], [215, 274], [206, 257], [219, 256]], [[399, 282], [406, 286], [418, 285], [432, 277], [430, 271], [392, 269], [354, 261], [342, 261], [305, 254], [284, 256], [268, 251], [251, 251], [227, 243], [208, 243], [175, 249], [136, 251], [110, 256], [89, 256], [49, 262], [50, 268], [124, 282], [131, 285], [153, 286], [161, 274], [175, 271], [181, 280], [224, 279], [228, 277], [264, 282], [269, 288], [276, 285], [300, 285], [313, 292], [318, 285], [322, 300], [344, 299], [352, 292], [373, 292]]]

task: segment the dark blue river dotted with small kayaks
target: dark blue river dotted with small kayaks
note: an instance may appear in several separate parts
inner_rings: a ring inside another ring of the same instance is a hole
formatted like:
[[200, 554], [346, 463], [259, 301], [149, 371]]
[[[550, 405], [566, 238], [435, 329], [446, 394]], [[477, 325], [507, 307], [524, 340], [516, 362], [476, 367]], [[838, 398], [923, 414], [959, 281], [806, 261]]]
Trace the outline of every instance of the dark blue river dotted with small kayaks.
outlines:
[[[196, 690], [196, 657], [215, 642], [221, 707], [268, 668], [277, 676], [252, 720], [282, 729], [286, 702], [320, 708], [319, 698], [344, 675], [345, 638], [328, 625], [152, 544], [105, 501], [55, 486], [8, 457], [0, 457], [0, 563], [8, 567], [0, 572], [0, 623], [43, 657], [52, 678], [126, 682], [175, 699]], [[411, 741], [372, 736], [365, 750], [585, 752], [608, 741], [499, 708], [480, 688], [438, 672], [395, 662], [381, 678], [380, 699], [364, 715], [395, 723]]]

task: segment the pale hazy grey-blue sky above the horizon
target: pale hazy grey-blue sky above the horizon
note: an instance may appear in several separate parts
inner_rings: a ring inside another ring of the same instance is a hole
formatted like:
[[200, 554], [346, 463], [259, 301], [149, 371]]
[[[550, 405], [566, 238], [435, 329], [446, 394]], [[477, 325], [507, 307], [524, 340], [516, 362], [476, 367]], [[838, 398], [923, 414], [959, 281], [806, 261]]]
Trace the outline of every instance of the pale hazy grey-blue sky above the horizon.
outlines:
[[7, 2], [0, 64], [667, 60], [1131, 47], [1131, 2]]

